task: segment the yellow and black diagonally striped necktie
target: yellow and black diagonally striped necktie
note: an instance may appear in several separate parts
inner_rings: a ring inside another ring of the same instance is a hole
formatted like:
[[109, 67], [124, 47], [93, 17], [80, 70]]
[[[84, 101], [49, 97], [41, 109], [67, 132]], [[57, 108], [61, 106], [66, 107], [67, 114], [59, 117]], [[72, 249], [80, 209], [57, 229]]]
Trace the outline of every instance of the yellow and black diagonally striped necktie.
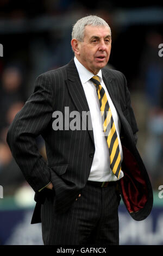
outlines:
[[105, 138], [109, 147], [110, 153], [110, 168], [112, 172], [119, 178], [121, 172], [121, 155], [120, 147], [118, 143], [117, 132], [112, 118], [111, 109], [109, 107], [109, 102], [105, 93], [104, 88], [101, 86], [98, 76], [93, 76], [91, 81], [96, 86], [96, 92], [101, 108], [103, 129], [105, 133]]

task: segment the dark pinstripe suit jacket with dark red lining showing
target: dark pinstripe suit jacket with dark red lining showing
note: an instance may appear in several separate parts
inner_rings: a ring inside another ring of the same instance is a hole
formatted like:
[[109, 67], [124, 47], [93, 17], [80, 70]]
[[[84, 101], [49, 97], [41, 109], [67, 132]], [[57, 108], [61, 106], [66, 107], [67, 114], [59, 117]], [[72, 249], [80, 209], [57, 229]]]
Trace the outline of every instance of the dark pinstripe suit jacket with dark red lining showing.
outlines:
[[[115, 70], [102, 69], [103, 80], [121, 121], [123, 148], [122, 170], [119, 182], [121, 196], [131, 217], [143, 220], [152, 209], [153, 193], [146, 168], [136, 149], [137, 125], [130, 104], [130, 94], [124, 75]], [[54, 111], [89, 111], [82, 83], [71, 60], [67, 65], [48, 71], [35, 82], [34, 93], [17, 113], [9, 127], [7, 142], [27, 182], [35, 191], [36, 207], [32, 223], [40, 222], [40, 205], [47, 196], [47, 188], [40, 188], [52, 181], [54, 210], [66, 211], [77, 198], [88, 179], [95, 144], [93, 131], [57, 130], [52, 128]], [[64, 119], [63, 119], [64, 120]], [[45, 140], [45, 162], [36, 147], [35, 138]]]

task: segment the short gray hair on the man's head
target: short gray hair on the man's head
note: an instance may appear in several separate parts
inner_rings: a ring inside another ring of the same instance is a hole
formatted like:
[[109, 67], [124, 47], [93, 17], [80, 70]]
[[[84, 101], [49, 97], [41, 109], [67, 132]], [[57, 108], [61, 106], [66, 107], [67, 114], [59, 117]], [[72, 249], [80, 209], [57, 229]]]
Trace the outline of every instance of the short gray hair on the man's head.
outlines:
[[[109, 27], [108, 23], [104, 21], [101, 17], [98, 17], [96, 15], [86, 16], [78, 20], [74, 24], [72, 29], [72, 39], [77, 39], [82, 42], [84, 40], [84, 29], [85, 29], [85, 26], [87, 25], [91, 25], [94, 27], [96, 26]], [[110, 34], [111, 34], [111, 29], [110, 29]]]

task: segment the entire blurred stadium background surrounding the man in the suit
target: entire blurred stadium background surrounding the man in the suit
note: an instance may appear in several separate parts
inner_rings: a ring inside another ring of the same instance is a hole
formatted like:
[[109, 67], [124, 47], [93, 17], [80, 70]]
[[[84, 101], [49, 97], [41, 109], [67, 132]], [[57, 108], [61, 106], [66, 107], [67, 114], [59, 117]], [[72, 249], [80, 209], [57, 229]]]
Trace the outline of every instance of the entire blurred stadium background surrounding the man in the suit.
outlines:
[[[163, 245], [163, 7], [159, 1], [79, 0], [0, 1], [0, 245], [42, 245], [41, 225], [30, 225], [34, 191], [12, 158], [7, 131], [36, 77], [71, 60], [72, 25], [90, 14], [111, 27], [108, 65], [127, 78], [139, 127], [137, 148], [154, 191], [145, 221], [131, 220], [121, 203], [120, 244]], [[42, 138], [37, 145], [46, 160]]]

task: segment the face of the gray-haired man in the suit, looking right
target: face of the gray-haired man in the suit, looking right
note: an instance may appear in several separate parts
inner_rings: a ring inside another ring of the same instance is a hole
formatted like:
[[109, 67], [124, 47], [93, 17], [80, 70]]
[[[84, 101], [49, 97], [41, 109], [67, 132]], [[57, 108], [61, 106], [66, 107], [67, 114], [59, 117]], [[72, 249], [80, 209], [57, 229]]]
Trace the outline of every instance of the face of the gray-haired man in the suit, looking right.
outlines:
[[87, 70], [93, 74], [108, 63], [111, 51], [111, 35], [109, 27], [86, 26], [84, 41], [78, 41], [78, 54], [76, 57]]

